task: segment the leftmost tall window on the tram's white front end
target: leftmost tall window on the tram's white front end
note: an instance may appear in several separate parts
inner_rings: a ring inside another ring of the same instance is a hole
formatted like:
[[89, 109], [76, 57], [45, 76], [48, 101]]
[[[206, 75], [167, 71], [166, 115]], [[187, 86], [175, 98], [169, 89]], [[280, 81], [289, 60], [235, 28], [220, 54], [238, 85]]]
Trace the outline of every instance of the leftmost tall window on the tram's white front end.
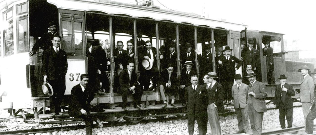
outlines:
[[4, 56], [10, 56], [14, 53], [13, 45], [13, 20], [6, 23], [5, 29], [3, 30], [4, 37]]

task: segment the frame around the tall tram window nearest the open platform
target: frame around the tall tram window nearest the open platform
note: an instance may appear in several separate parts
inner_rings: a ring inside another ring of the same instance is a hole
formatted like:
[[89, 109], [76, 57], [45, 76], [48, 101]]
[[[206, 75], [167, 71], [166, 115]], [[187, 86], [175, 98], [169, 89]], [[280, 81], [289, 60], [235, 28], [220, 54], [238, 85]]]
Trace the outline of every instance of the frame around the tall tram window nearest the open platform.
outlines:
[[[19, 44], [19, 39], [20, 39], [20, 32], [19, 32], [19, 21], [21, 21], [21, 20], [26, 20], [26, 30], [25, 30], [25, 32], [24, 33], [26, 33], [25, 35], [24, 35], [24, 37], [25, 37], [25, 39], [24, 39], [24, 44], [23, 44], [23, 46], [25, 46], [24, 48], [25, 49], [22, 49], [22, 50], [20, 50], [20, 48], [21, 48], [21, 45]], [[19, 18], [17, 18], [16, 19], [16, 34], [17, 34], [17, 38], [16, 38], [16, 43], [17, 43], [17, 53], [23, 53], [23, 52], [28, 52], [28, 49], [29, 49], [29, 44], [28, 44], [28, 19], [27, 19], [27, 16], [22, 16], [22, 17], [19, 17]]]

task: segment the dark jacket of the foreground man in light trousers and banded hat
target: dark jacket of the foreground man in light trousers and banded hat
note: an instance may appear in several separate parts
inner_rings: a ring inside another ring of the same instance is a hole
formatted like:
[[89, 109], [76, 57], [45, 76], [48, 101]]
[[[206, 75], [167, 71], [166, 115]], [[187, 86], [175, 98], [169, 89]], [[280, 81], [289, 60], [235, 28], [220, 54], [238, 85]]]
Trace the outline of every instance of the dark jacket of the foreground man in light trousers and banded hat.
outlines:
[[[205, 84], [203, 85], [203, 87], [206, 88], [207, 85]], [[208, 89], [206, 88], [206, 91], [208, 93], [209, 104], [214, 102], [216, 106], [220, 106], [222, 104], [225, 93], [223, 86], [221, 84], [216, 82], [211, 89], [210, 87]]]

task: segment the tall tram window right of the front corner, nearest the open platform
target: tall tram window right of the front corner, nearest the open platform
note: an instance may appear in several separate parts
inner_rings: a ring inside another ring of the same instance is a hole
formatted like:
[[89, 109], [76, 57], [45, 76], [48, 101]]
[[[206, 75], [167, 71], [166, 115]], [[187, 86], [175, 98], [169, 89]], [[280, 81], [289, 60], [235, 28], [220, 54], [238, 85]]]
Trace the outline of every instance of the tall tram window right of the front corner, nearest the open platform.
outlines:
[[27, 44], [27, 17], [22, 17], [17, 21], [17, 32], [18, 32], [18, 44], [17, 50], [18, 53], [27, 52], [28, 44]]

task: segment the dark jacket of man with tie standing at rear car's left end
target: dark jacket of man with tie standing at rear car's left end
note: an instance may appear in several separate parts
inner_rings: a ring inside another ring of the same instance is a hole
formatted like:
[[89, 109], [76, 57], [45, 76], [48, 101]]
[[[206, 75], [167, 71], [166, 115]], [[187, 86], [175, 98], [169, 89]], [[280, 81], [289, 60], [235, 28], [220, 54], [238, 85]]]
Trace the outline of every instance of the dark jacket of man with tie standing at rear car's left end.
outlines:
[[257, 67], [257, 50], [252, 47], [252, 51], [249, 50], [249, 47], [244, 48], [241, 52], [241, 57], [244, 60], [244, 64], [250, 63], [252, 65], [252, 68]]

